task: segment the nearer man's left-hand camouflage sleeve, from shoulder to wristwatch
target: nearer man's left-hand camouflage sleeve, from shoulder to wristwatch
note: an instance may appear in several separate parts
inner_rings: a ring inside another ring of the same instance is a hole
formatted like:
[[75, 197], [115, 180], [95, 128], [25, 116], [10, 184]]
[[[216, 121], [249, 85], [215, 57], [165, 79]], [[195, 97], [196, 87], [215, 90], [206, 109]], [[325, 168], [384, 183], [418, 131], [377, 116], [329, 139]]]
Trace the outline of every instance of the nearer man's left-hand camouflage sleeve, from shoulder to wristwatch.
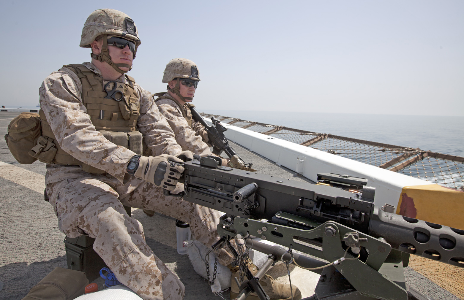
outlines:
[[122, 182], [134, 152], [103, 137], [90, 121], [81, 100], [82, 85], [69, 69], [52, 73], [39, 88], [40, 108], [64, 151]]

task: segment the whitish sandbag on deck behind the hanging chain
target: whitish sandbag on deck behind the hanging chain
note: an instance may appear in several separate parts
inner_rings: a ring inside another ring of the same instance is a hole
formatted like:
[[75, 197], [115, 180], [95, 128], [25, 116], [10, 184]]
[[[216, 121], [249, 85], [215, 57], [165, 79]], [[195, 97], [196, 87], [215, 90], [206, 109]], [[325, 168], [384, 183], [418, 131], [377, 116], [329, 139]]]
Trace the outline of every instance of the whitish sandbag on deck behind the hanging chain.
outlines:
[[[209, 251], [203, 243], [198, 242], [197, 240], [191, 240], [187, 243], [187, 255], [192, 263], [193, 269], [201, 277], [208, 279], [206, 275], [206, 265], [205, 265], [205, 255]], [[209, 274], [211, 276], [210, 280], [213, 277], [214, 272], [214, 258], [216, 255], [213, 251], [209, 253]], [[217, 263], [217, 273], [216, 279], [214, 280], [211, 290], [213, 293], [219, 293], [220, 291], [225, 290], [231, 286], [231, 276], [232, 272], [229, 268], [224, 267], [219, 262]]]

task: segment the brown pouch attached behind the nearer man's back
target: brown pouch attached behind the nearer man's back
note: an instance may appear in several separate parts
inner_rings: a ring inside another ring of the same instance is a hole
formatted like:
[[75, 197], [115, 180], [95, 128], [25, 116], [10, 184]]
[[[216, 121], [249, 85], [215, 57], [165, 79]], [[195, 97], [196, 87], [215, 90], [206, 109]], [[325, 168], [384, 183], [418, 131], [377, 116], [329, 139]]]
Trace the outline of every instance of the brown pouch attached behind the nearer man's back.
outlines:
[[57, 148], [51, 139], [42, 136], [40, 116], [23, 112], [8, 125], [6, 144], [20, 164], [32, 164], [36, 160], [52, 162]]

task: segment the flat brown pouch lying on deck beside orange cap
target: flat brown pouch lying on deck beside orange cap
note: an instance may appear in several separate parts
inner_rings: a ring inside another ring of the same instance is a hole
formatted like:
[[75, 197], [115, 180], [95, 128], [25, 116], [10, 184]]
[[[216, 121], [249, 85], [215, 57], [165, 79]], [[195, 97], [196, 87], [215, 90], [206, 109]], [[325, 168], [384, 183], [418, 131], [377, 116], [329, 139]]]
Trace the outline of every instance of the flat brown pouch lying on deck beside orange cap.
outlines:
[[84, 294], [88, 284], [84, 272], [57, 267], [22, 300], [72, 300]]

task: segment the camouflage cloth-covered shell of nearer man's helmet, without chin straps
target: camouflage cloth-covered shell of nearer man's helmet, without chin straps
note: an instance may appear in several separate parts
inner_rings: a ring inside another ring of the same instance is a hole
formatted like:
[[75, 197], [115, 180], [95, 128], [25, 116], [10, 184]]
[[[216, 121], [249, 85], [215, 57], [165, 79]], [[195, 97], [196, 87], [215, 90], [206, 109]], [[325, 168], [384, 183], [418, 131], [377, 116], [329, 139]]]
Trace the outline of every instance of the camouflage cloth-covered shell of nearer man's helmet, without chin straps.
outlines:
[[[97, 9], [87, 18], [82, 28], [80, 47], [90, 48], [99, 35], [118, 35], [135, 41], [135, 51], [141, 44], [134, 21], [125, 13], [115, 9]], [[134, 53], [135, 54], [135, 53]]]

